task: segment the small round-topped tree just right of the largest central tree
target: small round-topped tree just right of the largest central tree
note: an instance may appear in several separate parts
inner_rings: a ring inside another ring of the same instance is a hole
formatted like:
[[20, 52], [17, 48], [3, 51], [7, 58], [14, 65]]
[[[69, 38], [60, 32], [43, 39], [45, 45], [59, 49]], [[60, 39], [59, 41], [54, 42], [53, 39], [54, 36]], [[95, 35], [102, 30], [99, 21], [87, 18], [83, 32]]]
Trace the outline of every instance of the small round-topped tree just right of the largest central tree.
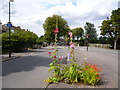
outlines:
[[72, 29], [72, 33], [73, 33], [73, 37], [77, 37], [77, 41], [78, 41], [78, 39], [83, 36], [84, 30], [81, 27], [75, 28]]

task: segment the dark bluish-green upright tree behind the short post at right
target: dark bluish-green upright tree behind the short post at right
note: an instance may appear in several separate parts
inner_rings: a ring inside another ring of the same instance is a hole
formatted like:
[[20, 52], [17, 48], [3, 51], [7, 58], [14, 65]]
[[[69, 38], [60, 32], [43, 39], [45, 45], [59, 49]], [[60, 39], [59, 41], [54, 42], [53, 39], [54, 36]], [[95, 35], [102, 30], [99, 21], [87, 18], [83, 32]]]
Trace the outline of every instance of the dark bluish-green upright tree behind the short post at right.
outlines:
[[97, 42], [97, 32], [94, 24], [86, 22], [85, 26], [85, 36], [88, 37], [90, 43]]

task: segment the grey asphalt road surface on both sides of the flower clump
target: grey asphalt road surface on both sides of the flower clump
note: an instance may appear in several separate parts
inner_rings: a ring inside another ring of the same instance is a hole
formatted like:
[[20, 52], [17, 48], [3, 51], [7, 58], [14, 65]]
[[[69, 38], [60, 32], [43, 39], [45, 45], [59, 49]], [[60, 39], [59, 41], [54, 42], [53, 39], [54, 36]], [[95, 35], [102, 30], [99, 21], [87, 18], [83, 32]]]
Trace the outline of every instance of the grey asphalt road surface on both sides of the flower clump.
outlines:
[[[59, 55], [67, 56], [68, 48], [59, 47]], [[45, 88], [47, 83], [44, 82], [48, 73], [50, 57], [47, 48], [36, 49], [29, 56], [24, 56], [2, 63], [2, 87], [3, 88]], [[79, 64], [84, 58], [92, 64], [96, 64], [102, 68], [102, 83], [98, 87], [117, 88], [118, 87], [118, 51], [89, 48], [75, 48], [76, 57]], [[50, 84], [48, 88], [81, 88], [82, 86], [66, 85], [66, 84]], [[86, 86], [84, 86], [86, 87]], [[88, 86], [89, 87], [89, 86]]]

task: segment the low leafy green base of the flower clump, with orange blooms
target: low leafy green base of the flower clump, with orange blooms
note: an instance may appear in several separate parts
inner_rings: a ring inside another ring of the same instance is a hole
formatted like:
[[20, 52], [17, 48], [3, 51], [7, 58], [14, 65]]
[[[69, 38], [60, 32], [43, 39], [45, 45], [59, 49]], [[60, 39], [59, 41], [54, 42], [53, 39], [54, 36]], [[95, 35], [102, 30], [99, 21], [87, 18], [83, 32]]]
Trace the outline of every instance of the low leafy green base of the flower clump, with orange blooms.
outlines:
[[50, 69], [54, 69], [54, 76], [50, 77], [46, 81], [49, 83], [58, 83], [63, 81], [67, 84], [82, 82], [88, 85], [95, 85], [100, 81], [100, 69], [96, 65], [86, 63], [86, 65], [82, 67], [77, 63], [72, 63], [62, 66], [61, 68], [62, 69], [56, 68], [53, 65]]

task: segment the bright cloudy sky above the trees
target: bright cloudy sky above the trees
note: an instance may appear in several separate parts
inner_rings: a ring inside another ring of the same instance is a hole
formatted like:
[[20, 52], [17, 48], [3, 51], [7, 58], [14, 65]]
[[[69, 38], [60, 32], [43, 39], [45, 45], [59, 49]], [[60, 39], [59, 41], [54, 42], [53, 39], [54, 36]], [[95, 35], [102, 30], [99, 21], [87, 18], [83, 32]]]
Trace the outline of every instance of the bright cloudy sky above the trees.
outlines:
[[[28, 29], [38, 36], [44, 35], [43, 23], [53, 14], [62, 16], [71, 29], [90, 22], [98, 35], [101, 23], [118, 8], [120, 0], [14, 0], [11, 2], [11, 22], [14, 26]], [[0, 0], [0, 21], [6, 24], [9, 0]]]

